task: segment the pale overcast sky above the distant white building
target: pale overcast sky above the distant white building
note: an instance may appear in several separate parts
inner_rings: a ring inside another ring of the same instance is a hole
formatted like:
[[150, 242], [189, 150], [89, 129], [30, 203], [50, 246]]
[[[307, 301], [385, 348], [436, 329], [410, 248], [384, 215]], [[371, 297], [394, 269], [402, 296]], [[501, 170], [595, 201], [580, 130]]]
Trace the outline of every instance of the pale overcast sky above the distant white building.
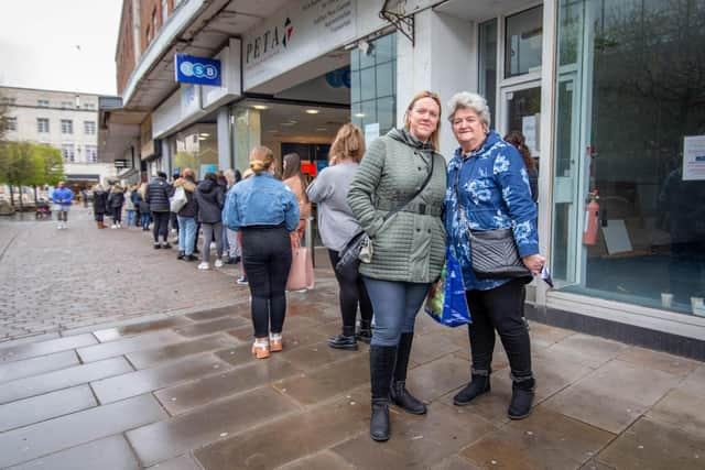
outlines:
[[0, 85], [116, 94], [122, 0], [0, 0]]

